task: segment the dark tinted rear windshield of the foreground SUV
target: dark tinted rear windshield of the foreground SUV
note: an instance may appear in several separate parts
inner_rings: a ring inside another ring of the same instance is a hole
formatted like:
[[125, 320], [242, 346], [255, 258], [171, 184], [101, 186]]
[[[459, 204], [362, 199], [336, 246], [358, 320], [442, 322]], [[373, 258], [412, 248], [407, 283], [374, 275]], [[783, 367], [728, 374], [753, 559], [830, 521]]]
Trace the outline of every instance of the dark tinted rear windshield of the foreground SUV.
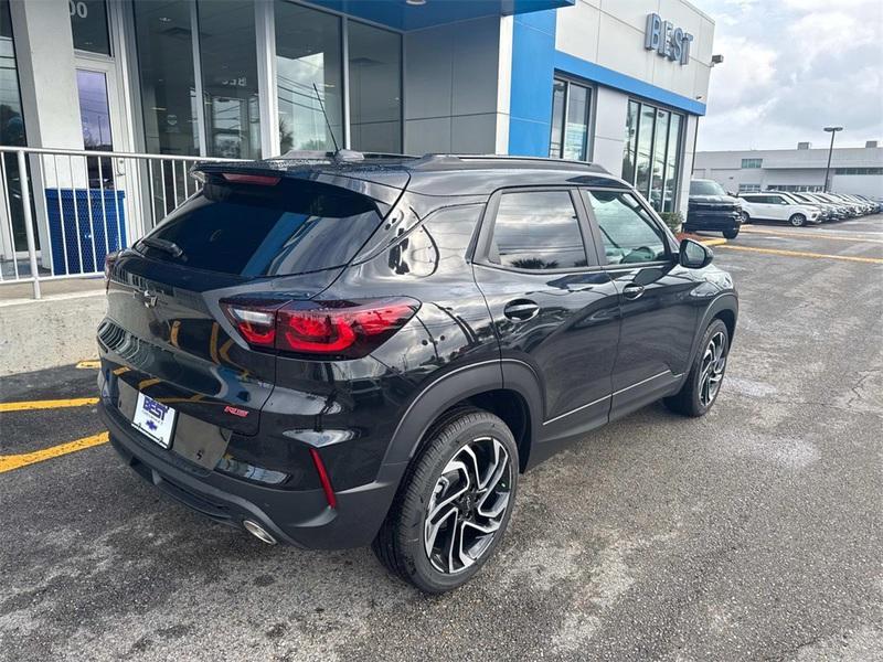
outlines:
[[337, 186], [206, 183], [136, 249], [206, 271], [287, 276], [348, 264], [380, 223], [370, 197]]

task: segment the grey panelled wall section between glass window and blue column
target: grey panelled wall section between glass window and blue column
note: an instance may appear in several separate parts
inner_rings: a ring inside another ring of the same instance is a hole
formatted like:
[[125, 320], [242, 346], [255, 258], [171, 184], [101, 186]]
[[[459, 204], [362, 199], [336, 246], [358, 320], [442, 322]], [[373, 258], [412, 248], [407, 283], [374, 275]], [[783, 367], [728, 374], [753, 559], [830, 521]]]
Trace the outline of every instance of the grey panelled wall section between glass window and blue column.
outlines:
[[498, 94], [508, 89], [500, 53], [511, 53], [511, 34], [498, 17], [405, 33], [406, 153], [498, 150], [509, 105]]

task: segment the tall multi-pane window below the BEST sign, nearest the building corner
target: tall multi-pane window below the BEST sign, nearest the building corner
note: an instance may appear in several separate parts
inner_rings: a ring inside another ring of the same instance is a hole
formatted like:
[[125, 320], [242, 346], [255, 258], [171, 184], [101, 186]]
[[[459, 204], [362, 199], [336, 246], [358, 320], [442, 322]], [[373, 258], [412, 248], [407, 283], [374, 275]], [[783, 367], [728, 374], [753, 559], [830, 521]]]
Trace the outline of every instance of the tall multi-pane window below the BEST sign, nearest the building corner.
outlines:
[[628, 103], [623, 179], [660, 212], [675, 209], [683, 124], [683, 116], [671, 110]]

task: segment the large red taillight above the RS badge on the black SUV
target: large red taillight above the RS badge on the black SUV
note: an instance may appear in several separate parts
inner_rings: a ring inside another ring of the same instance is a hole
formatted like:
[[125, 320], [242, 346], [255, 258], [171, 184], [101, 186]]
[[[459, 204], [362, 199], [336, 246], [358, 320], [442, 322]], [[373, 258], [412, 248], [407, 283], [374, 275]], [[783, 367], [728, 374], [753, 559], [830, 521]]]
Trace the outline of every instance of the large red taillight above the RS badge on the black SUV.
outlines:
[[227, 317], [255, 348], [358, 359], [380, 346], [419, 309], [408, 298], [370, 301], [222, 301]]

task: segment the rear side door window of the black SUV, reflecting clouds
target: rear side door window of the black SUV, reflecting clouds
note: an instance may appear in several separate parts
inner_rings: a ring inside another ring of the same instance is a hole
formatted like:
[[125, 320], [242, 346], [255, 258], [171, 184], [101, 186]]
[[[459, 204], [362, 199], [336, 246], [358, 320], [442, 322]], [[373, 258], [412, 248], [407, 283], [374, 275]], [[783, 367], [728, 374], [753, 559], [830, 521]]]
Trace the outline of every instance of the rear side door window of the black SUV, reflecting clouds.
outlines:
[[585, 267], [583, 233], [571, 194], [504, 193], [493, 223], [490, 261], [535, 270]]

